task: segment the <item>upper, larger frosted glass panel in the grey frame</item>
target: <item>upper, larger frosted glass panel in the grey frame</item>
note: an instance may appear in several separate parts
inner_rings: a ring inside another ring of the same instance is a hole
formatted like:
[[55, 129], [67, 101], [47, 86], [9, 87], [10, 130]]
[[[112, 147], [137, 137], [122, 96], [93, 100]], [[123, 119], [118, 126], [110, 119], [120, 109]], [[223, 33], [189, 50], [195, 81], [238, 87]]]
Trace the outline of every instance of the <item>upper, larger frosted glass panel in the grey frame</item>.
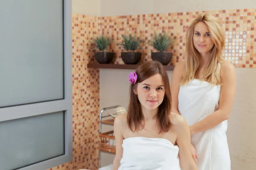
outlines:
[[62, 0], [0, 0], [0, 21], [0, 107], [63, 99]]

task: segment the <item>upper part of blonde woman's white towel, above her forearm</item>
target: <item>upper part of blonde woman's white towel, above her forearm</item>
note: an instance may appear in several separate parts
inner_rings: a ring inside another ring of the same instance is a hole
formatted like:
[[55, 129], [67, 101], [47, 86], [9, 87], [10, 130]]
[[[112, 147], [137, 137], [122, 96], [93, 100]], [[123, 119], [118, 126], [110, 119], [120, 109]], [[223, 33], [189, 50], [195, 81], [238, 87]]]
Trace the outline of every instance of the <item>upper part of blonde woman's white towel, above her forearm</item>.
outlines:
[[178, 109], [189, 126], [199, 122], [218, 109], [220, 85], [212, 85], [193, 79], [188, 85], [180, 86]]

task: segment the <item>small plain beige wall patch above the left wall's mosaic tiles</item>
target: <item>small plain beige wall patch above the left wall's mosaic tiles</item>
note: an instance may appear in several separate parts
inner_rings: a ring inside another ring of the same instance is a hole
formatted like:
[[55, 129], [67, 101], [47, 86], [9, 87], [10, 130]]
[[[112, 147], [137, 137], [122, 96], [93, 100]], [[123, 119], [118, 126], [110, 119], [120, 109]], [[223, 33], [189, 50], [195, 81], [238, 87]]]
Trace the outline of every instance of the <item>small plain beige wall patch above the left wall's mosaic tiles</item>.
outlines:
[[100, 0], [72, 0], [72, 14], [99, 16]]

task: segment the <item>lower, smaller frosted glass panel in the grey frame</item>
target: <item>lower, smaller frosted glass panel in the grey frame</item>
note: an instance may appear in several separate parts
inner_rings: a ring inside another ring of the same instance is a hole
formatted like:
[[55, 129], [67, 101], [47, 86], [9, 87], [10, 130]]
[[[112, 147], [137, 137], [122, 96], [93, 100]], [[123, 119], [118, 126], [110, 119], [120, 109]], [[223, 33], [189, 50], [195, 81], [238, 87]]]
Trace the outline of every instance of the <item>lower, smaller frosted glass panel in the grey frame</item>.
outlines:
[[0, 122], [0, 169], [64, 154], [64, 112]]

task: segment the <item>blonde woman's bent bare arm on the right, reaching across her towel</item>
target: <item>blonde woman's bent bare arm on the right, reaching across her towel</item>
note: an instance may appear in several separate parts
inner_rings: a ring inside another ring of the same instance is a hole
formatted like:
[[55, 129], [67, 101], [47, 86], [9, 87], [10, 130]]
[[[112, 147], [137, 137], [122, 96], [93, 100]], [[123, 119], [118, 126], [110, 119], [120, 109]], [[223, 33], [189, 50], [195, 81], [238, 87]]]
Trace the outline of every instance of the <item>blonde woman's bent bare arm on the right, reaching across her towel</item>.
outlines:
[[218, 111], [191, 125], [191, 135], [211, 129], [229, 118], [236, 93], [236, 70], [232, 63], [221, 65], [221, 95]]

